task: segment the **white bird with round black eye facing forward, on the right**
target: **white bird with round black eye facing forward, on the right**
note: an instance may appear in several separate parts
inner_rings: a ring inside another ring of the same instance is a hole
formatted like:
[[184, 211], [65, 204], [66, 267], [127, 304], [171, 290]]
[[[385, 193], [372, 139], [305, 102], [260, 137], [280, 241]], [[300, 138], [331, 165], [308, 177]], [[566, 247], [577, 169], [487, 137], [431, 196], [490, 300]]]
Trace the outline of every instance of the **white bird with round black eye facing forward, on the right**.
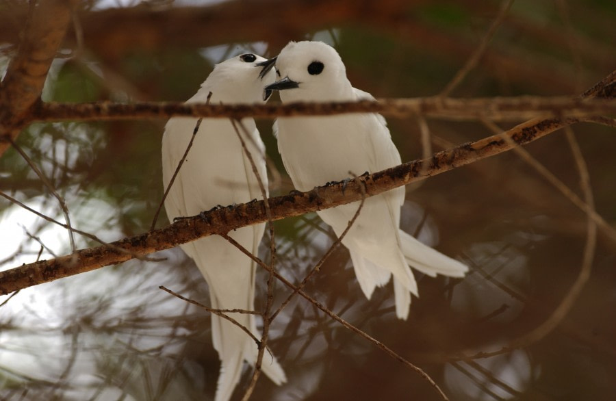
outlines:
[[[262, 73], [268, 73], [274, 62], [283, 78], [266, 90], [279, 90], [283, 103], [374, 100], [369, 93], [352, 87], [342, 59], [328, 44], [290, 42], [275, 60], [263, 63]], [[348, 179], [349, 172], [372, 173], [401, 163], [385, 118], [379, 114], [278, 118], [274, 134], [285, 168], [300, 191]], [[409, 315], [411, 294], [418, 296], [409, 266], [429, 276], [462, 277], [468, 270], [463, 263], [399, 229], [404, 200], [404, 187], [366, 198], [359, 217], [342, 240], [368, 299], [374, 288], [387, 284], [393, 274], [396, 315], [400, 319]], [[317, 214], [341, 235], [358, 205], [350, 203]]]

